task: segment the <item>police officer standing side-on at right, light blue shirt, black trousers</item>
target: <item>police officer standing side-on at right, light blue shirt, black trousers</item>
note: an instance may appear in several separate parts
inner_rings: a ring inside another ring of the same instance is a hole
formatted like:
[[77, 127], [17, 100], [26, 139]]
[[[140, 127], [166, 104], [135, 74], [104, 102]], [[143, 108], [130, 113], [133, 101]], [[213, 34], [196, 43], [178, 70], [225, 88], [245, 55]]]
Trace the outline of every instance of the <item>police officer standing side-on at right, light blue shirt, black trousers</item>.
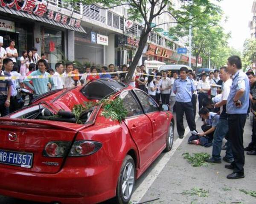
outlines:
[[227, 175], [229, 179], [244, 178], [244, 125], [249, 107], [249, 80], [241, 70], [242, 63], [238, 56], [227, 59], [227, 71], [233, 75], [230, 95], [227, 98], [226, 112], [229, 126], [229, 139], [231, 141], [234, 161], [225, 165], [233, 173]]

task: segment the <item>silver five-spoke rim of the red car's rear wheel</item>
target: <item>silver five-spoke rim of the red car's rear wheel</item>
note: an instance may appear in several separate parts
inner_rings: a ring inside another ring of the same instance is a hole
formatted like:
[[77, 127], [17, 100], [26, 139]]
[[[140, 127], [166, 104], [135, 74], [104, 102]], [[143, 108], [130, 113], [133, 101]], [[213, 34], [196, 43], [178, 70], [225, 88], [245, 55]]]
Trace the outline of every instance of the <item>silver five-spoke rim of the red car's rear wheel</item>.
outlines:
[[122, 175], [122, 194], [125, 199], [130, 198], [134, 187], [134, 166], [129, 162], [125, 165]]

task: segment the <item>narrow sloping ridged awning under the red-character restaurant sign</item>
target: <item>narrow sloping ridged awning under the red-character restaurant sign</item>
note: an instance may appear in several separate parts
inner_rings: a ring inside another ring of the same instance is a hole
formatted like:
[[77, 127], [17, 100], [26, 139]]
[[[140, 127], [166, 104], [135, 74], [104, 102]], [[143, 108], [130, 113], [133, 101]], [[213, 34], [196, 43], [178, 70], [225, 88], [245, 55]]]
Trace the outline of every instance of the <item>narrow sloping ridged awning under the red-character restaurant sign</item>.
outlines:
[[7, 13], [7, 14], [12, 14], [12, 15], [15, 15], [15, 16], [21, 17], [21, 18], [27, 18], [29, 20], [40, 21], [42, 23], [47, 23], [47, 24], [50, 24], [52, 26], [58, 26], [58, 27], [61, 27], [61, 28], [64, 28], [64, 29], [72, 30], [72, 31], [86, 33], [86, 31], [82, 27], [76, 28], [76, 27], [73, 27], [73, 26], [69, 26], [67, 24], [58, 23], [58, 22], [55, 22], [54, 20], [48, 20], [47, 18], [44, 18], [44, 17], [39, 17], [39, 16], [36, 16], [34, 14], [27, 14], [26, 12], [17, 11], [15, 9], [8, 8], [8, 7], [0, 7], [0, 12], [4, 12], [4, 13]]

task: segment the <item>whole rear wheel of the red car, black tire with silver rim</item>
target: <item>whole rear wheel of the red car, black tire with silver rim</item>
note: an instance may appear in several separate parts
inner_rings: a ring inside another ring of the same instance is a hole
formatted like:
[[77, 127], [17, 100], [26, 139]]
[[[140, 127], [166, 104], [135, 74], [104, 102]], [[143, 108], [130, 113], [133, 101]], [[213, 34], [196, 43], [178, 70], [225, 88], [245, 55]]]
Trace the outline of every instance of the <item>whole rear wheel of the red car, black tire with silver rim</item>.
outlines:
[[[129, 181], [129, 182], [128, 182]], [[130, 155], [125, 156], [116, 187], [115, 204], [128, 204], [135, 185], [135, 164]]]

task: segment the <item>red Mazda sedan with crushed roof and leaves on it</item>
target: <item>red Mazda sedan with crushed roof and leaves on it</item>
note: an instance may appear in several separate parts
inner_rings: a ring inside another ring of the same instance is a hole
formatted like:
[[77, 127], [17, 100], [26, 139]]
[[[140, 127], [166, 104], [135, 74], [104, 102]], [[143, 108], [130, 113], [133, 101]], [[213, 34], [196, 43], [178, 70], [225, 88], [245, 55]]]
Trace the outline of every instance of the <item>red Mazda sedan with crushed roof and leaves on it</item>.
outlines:
[[[74, 105], [107, 97], [123, 99], [124, 120], [103, 116], [102, 105], [95, 105], [76, 123]], [[163, 150], [171, 150], [173, 132], [167, 105], [111, 79], [48, 92], [1, 118], [0, 194], [61, 204], [110, 198], [128, 204], [135, 180]]]

